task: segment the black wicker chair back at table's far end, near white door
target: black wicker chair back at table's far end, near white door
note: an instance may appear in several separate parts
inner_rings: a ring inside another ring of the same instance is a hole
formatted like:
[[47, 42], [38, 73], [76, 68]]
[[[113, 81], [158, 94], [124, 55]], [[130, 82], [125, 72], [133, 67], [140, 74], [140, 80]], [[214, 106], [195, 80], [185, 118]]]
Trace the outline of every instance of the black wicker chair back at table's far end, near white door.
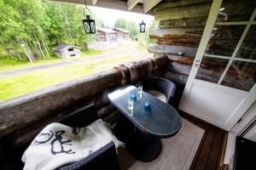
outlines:
[[165, 94], [166, 103], [172, 104], [176, 90], [176, 86], [173, 82], [165, 78], [151, 77], [144, 80], [143, 82], [140, 82], [137, 85], [143, 85], [143, 91], [149, 91], [149, 94], [151, 90], [158, 91], [161, 94]]

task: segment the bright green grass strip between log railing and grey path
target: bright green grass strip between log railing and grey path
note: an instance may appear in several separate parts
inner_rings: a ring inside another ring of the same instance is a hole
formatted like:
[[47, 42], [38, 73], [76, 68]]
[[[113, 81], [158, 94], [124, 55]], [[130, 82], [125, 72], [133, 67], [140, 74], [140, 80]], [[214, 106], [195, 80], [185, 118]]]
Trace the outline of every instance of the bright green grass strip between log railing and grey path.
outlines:
[[85, 64], [65, 65], [16, 77], [2, 78], [0, 80], [0, 101], [54, 86], [61, 82], [71, 81], [75, 78], [88, 76], [126, 61], [134, 60], [138, 60], [138, 58], [126, 56], [119, 59], [102, 59]]

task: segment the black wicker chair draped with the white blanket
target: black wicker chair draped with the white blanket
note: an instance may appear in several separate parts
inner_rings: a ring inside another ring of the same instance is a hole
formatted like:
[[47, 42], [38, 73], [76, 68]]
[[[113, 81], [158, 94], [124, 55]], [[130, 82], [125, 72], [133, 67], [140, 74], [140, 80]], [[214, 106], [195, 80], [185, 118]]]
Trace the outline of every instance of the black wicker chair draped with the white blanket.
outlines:
[[[63, 118], [60, 123], [70, 127], [86, 127], [91, 122], [95, 122], [99, 119], [96, 112], [95, 105], [86, 105], [84, 108], [73, 112], [70, 116]], [[119, 170], [119, 161], [115, 149], [115, 145], [112, 142], [106, 144], [101, 149], [96, 150], [90, 156], [84, 157], [82, 160], [74, 162], [72, 164], [59, 167], [60, 170], [73, 170], [73, 169], [113, 169]]]

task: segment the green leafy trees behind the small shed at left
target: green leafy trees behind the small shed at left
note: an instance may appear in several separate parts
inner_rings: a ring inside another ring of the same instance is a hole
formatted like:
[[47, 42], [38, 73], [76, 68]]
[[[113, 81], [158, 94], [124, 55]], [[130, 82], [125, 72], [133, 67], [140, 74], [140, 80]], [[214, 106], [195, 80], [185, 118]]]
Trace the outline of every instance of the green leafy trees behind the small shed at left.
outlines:
[[86, 48], [96, 38], [84, 33], [83, 11], [72, 3], [0, 0], [0, 45], [9, 57], [30, 62], [50, 58], [50, 48], [61, 42]]

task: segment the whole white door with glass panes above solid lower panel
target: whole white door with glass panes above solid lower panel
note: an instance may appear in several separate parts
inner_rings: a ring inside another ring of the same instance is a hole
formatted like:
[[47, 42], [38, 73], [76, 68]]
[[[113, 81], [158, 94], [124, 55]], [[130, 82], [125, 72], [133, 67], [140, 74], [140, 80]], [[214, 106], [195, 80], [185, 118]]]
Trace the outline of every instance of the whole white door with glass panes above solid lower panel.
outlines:
[[214, 0], [179, 109], [226, 130], [256, 98], [256, 2]]

